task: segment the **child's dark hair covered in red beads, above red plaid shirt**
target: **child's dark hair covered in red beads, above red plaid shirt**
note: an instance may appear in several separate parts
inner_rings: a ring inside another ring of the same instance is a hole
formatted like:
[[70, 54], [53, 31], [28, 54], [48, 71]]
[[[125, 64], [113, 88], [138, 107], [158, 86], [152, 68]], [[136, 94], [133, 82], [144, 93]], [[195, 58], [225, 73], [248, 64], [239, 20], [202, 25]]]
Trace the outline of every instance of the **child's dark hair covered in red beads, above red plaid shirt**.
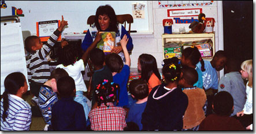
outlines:
[[[118, 95], [117, 95], [118, 90]], [[97, 85], [95, 89], [96, 100], [99, 105], [104, 103], [107, 106], [107, 102], [115, 102], [117, 99], [117, 104], [119, 101], [120, 87], [119, 84], [113, 82], [110, 83], [109, 80], [103, 80], [101, 84]], [[118, 97], [117, 97], [118, 96]]]

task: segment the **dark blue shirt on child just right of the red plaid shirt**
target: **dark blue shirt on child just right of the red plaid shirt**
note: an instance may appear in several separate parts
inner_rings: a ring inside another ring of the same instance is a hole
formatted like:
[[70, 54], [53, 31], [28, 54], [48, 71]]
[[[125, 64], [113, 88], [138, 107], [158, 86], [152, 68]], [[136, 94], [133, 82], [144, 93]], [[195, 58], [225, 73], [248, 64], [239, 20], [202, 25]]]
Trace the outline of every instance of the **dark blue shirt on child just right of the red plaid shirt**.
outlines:
[[147, 102], [144, 103], [133, 103], [131, 106], [126, 122], [135, 122], [139, 126], [139, 130], [142, 130], [142, 113], [147, 105]]

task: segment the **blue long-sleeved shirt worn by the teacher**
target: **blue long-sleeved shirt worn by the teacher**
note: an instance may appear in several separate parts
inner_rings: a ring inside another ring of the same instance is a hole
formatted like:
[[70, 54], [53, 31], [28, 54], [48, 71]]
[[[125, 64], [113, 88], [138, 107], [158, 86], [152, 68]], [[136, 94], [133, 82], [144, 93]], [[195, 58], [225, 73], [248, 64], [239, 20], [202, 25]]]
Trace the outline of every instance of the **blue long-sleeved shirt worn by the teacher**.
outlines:
[[[105, 30], [106, 32], [110, 31], [109, 29]], [[132, 38], [129, 35], [129, 33], [126, 31], [126, 29], [124, 28], [124, 26], [122, 25], [122, 29], [121, 29], [121, 39], [123, 38], [124, 35], [127, 35], [128, 43], [127, 43], [127, 50], [131, 51], [133, 49], [133, 44], [132, 44]], [[83, 43], [81, 44], [81, 48], [86, 51], [88, 49], [88, 47], [91, 46], [91, 43], [93, 42], [92, 36], [90, 34], [89, 29], [87, 30], [87, 34], [84, 37]]]

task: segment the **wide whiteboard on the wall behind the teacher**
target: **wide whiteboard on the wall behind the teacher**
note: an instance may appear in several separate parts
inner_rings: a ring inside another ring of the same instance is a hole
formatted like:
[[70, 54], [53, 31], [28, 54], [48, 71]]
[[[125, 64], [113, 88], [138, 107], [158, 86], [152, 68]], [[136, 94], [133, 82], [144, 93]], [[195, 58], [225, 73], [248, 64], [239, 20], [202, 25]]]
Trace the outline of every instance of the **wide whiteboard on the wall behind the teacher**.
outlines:
[[[153, 23], [149, 21], [149, 12], [152, 8], [148, 7], [149, 1], [5, 1], [8, 6], [1, 9], [1, 16], [12, 15], [12, 6], [23, 10], [24, 17], [20, 17], [21, 28], [23, 31], [30, 31], [36, 35], [36, 22], [47, 20], [68, 21], [68, 28], [64, 33], [82, 33], [89, 28], [87, 18], [95, 15], [96, 10], [101, 5], [109, 4], [116, 14], [132, 14], [132, 3], [144, 3], [145, 18], [135, 18], [131, 25], [131, 30], [138, 32], [151, 31]], [[150, 14], [150, 17], [153, 14]], [[127, 28], [128, 29], [128, 28]]]

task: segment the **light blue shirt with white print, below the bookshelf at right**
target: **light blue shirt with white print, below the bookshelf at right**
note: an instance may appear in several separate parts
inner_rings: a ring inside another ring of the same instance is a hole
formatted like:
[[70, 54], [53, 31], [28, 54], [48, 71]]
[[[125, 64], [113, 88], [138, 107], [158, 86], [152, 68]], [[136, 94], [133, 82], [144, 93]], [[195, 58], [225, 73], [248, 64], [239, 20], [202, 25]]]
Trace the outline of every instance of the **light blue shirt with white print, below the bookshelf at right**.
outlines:
[[[218, 75], [217, 70], [213, 68], [210, 61], [203, 60], [205, 62], [205, 71], [203, 73], [203, 87], [205, 90], [213, 88], [214, 90], [218, 89]], [[201, 62], [196, 64], [198, 68], [201, 68]]]

